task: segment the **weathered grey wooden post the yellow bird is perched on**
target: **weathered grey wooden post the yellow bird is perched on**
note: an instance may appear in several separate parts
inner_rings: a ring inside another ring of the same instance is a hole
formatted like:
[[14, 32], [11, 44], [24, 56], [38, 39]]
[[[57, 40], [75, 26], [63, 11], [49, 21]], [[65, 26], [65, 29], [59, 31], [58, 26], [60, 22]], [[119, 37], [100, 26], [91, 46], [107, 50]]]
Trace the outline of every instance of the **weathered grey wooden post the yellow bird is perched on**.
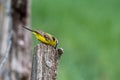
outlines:
[[63, 53], [60, 50], [43, 43], [35, 47], [31, 80], [56, 80], [58, 61]]

